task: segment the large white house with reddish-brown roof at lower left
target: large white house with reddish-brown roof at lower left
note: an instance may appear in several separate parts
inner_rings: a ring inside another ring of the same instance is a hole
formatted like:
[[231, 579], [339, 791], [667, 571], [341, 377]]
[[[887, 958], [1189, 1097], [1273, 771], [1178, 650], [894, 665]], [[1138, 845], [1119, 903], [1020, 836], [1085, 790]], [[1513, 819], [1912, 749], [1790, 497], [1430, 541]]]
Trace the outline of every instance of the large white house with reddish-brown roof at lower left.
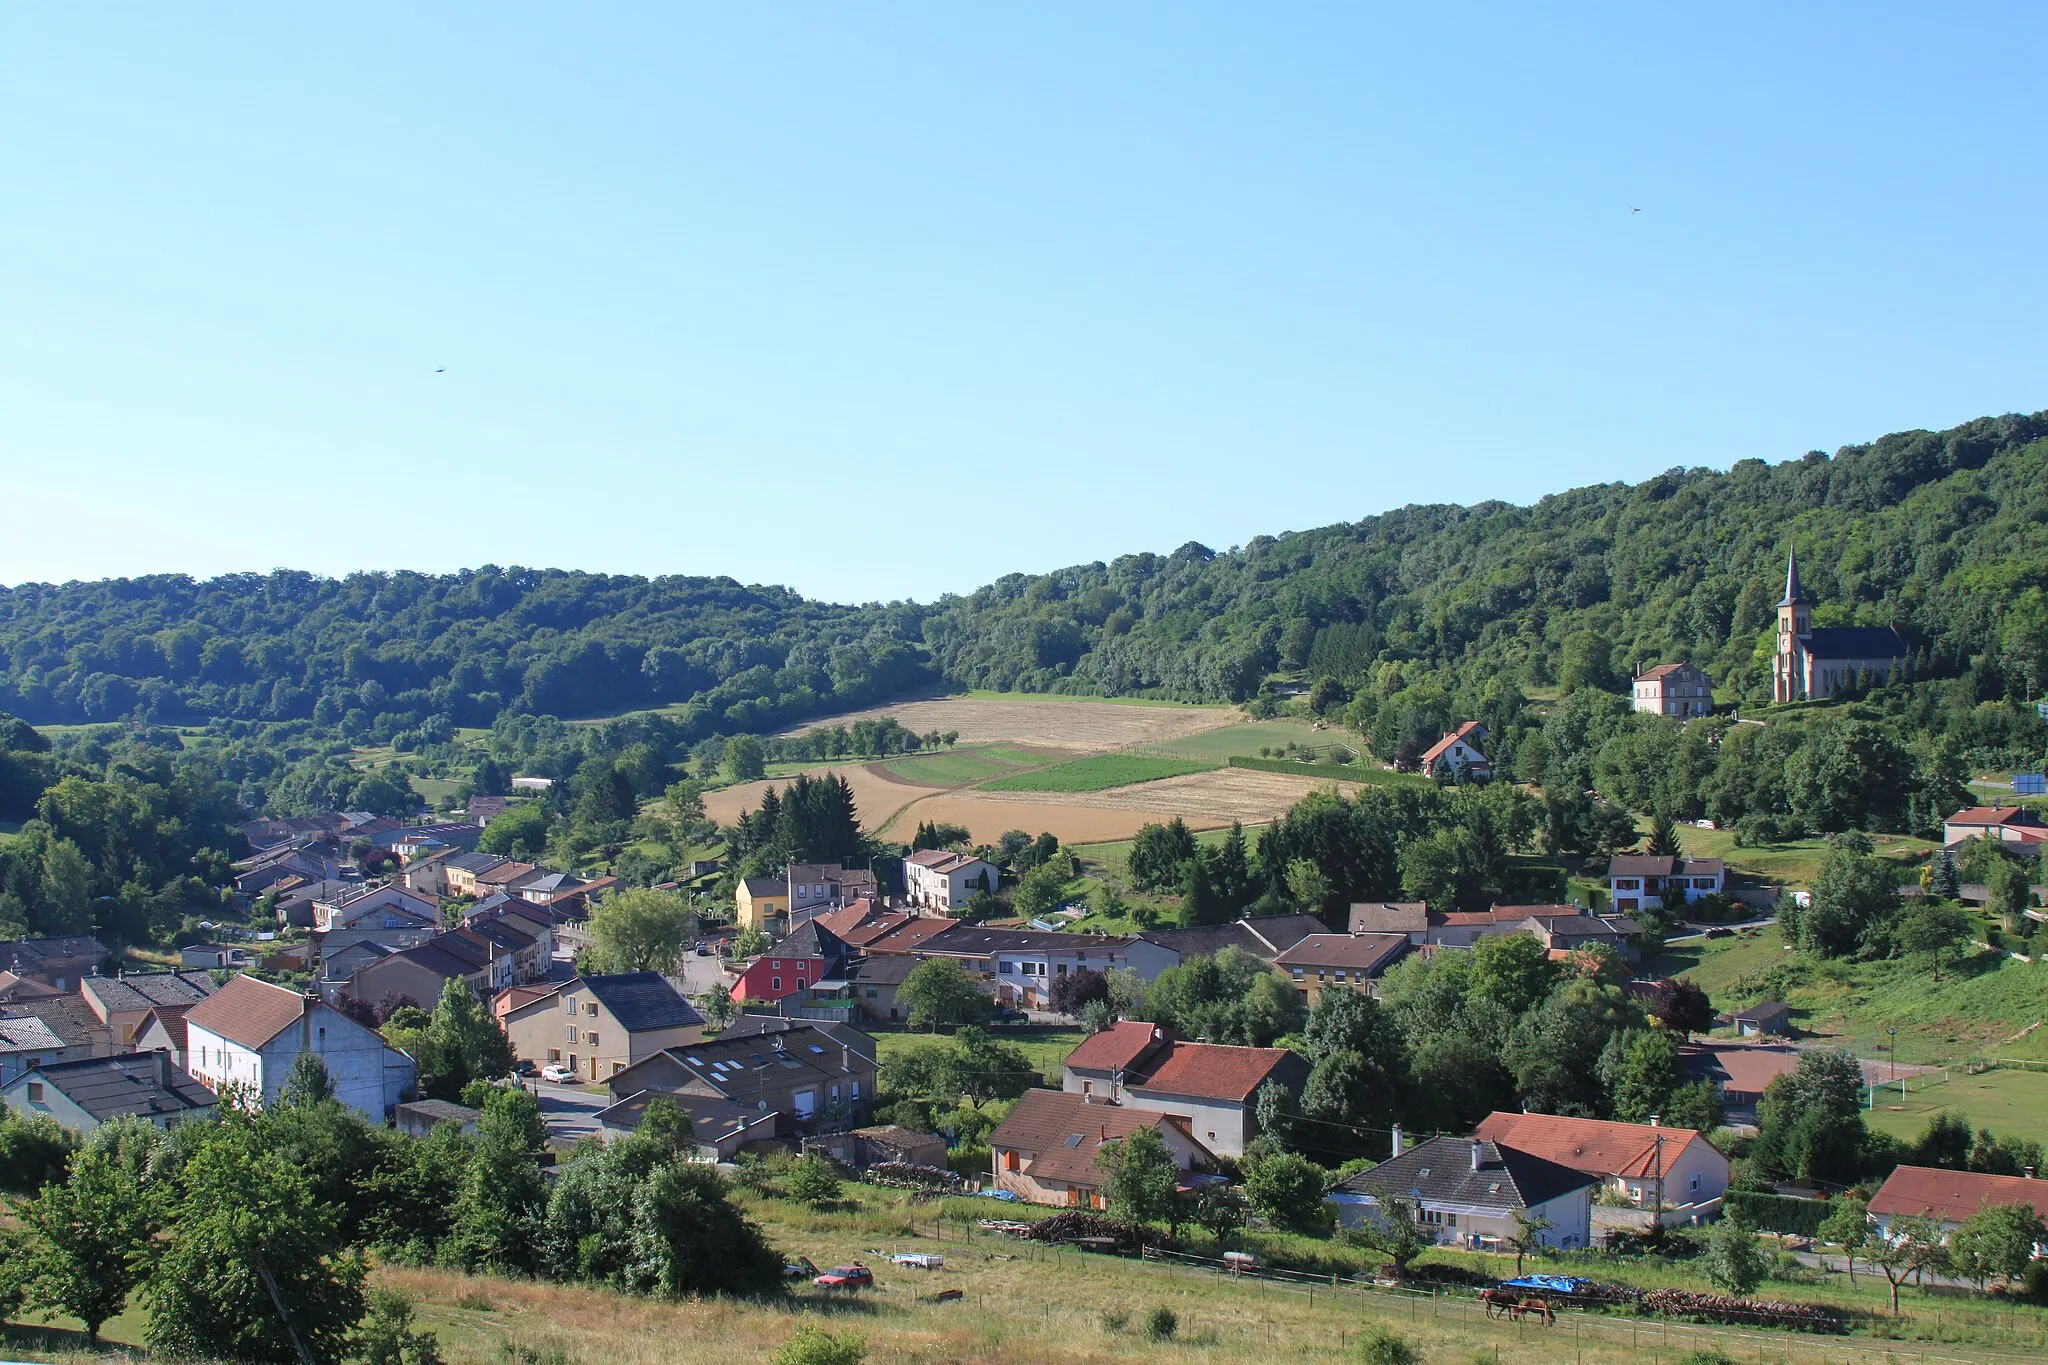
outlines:
[[328, 1064], [334, 1097], [383, 1119], [414, 1089], [412, 1058], [319, 999], [236, 976], [184, 1015], [184, 1068], [211, 1091], [276, 1099], [299, 1054]]

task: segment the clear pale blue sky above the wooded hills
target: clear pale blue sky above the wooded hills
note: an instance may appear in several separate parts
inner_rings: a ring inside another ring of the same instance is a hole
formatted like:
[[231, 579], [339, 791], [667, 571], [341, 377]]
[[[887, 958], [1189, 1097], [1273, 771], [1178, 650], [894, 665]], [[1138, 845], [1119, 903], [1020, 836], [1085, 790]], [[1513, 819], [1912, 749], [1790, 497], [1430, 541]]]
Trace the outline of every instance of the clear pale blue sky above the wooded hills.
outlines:
[[2042, 51], [2040, 4], [6, 6], [0, 583], [932, 598], [2048, 407]]

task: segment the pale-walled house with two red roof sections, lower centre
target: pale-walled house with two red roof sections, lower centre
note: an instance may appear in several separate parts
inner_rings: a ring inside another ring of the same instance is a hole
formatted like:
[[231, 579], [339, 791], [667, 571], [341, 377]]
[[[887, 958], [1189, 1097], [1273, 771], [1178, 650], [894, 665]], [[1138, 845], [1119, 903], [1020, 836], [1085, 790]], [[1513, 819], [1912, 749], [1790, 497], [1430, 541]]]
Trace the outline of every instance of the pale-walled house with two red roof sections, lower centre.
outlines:
[[1294, 1099], [1309, 1064], [1286, 1048], [1223, 1048], [1124, 1021], [1067, 1054], [1061, 1089], [1094, 1103], [1174, 1115], [1217, 1156], [1243, 1156], [1257, 1136], [1257, 1093], [1280, 1085]]

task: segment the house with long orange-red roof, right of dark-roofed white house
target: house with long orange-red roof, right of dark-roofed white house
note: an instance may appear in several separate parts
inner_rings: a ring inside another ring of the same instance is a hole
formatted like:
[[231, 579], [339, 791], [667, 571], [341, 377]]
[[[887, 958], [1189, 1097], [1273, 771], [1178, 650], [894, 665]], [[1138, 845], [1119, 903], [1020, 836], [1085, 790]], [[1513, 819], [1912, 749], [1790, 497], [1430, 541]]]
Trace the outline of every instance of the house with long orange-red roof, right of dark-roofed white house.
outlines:
[[1729, 1191], [1729, 1158], [1694, 1128], [1495, 1111], [1473, 1136], [1597, 1175], [1642, 1207], [1712, 1203]]

